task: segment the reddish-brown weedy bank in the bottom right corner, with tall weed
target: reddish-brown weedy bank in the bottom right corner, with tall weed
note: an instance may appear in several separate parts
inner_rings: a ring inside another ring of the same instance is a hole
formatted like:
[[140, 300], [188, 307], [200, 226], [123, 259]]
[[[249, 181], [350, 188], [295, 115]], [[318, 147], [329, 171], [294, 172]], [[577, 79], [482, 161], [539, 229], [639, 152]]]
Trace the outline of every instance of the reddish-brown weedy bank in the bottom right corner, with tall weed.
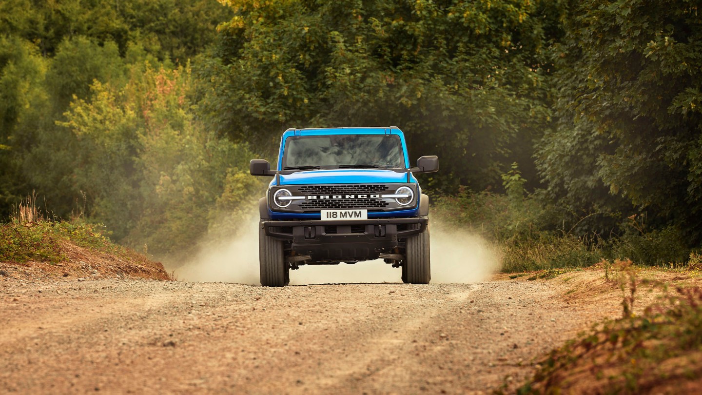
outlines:
[[[631, 261], [614, 264], [623, 316], [551, 351], [517, 394], [559, 394], [587, 382], [591, 393], [640, 394], [694, 380], [702, 371], [702, 288], [640, 280]], [[637, 284], [661, 290], [658, 302], [633, 312]], [[594, 380], [593, 380], [594, 379]]]

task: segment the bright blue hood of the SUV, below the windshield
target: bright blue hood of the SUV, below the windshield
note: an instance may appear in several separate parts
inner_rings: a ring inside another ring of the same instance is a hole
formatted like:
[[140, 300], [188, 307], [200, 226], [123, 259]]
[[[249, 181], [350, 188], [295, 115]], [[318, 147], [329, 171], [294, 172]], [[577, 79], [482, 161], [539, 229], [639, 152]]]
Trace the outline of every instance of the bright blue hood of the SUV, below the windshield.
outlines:
[[[410, 175], [410, 182], [416, 183], [417, 180]], [[330, 183], [407, 183], [407, 174], [382, 169], [338, 169], [296, 171], [280, 175], [280, 185]]]

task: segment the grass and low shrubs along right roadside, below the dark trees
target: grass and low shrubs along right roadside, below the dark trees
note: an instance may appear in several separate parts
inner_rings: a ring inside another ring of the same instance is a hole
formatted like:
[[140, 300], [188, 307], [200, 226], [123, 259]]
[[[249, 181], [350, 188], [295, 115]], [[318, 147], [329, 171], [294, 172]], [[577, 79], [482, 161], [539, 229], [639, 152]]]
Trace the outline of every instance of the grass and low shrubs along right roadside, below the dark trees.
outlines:
[[432, 206], [432, 216], [443, 224], [494, 243], [503, 273], [583, 268], [616, 259], [702, 269], [702, 254], [691, 252], [674, 227], [651, 230], [644, 224], [645, 216], [634, 215], [616, 224], [619, 233], [610, 231], [603, 238], [602, 231], [583, 231], [583, 226], [602, 216], [614, 221], [604, 213], [578, 216], [544, 203], [538, 193], [525, 195], [515, 171], [503, 178], [509, 181], [505, 181], [506, 194], [463, 188], [456, 195], [437, 197]]

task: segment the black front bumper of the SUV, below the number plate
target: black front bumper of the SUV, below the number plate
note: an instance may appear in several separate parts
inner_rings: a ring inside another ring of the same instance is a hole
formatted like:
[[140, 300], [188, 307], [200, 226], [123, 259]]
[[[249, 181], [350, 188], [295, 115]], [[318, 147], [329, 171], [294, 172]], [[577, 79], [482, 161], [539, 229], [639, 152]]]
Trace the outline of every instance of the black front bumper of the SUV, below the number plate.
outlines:
[[366, 261], [404, 247], [402, 240], [426, 231], [428, 219], [383, 218], [354, 221], [263, 221], [267, 236], [292, 241], [291, 250], [311, 261]]

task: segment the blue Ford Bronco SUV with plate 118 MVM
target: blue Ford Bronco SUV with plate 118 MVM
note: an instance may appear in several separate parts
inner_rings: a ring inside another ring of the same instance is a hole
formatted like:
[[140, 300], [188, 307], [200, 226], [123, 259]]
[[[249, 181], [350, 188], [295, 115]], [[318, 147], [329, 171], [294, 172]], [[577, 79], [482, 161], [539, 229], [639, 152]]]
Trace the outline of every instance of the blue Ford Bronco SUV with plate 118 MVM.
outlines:
[[384, 259], [402, 281], [427, 284], [429, 197], [414, 177], [439, 169], [436, 156], [409, 167], [397, 127], [288, 129], [277, 169], [258, 202], [261, 285], [282, 287], [290, 269]]

